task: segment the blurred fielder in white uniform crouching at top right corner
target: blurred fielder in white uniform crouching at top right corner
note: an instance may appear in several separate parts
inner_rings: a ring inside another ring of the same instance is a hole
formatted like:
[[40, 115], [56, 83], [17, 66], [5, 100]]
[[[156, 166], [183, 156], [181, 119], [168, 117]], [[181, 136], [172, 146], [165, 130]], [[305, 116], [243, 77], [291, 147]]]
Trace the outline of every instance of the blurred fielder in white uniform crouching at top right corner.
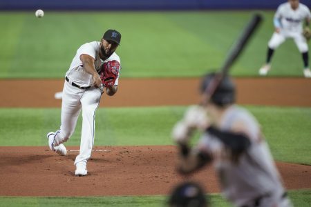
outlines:
[[[311, 77], [309, 68], [308, 40], [310, 32], [311, 13], [307, 6], [299, 3], [299, 0], [288, 0], [282, 3], [274, 15], [274, 34], [272, 35], [267, 48], [267, 59], [265, 65], [259, 70], [259, 75], [267, 75], [271, 68], [271, 59], [274, 50], [278, 48], [286, 39], [294, 39], [299, 52], [303, 58], [303, 75]], [[303, 30], [303, 21], [305, 28]]]

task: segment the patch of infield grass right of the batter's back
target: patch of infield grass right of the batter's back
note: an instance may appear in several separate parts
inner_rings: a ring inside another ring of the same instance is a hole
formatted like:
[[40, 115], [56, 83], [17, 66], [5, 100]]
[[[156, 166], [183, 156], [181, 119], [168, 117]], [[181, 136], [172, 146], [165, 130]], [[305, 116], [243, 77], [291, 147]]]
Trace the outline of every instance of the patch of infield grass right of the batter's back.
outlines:
[[274, 158], [311, 164], [311, 108], [248, 107], [263, 128]]

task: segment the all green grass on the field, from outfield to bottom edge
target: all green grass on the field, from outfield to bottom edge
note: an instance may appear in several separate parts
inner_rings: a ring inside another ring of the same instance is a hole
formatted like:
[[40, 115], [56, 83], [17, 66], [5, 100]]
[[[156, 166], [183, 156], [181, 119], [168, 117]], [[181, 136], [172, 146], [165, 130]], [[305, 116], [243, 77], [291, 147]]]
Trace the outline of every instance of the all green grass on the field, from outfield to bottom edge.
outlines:
[[[273, 12], [233, 67], [234, 76], [257, 76], [265, 61]], [[252, 11], [0, 12], [0, 78], [62, 78], [82, 43], [108, 28], [122, 33], [117, 50], [122, 77], [199, 77], [221, 66]], [[198, 26], [199, 25], [199, 26]], [[270, 76], [301, 76], [292, 40], [276, 50]], [[310, 108], [247, 106], [257, 117], [274, 158], [311, 164]], [[170, 132], [185, 107], [100, 108], [95, 146], [173, 144]], [[0, 146], [46, 146], [59, 127], [60, 109], [0, 108]], [[79, 146], [81, 119], [68, 146]], [[310, 206], [311, 190], [291, 190], [295, 206]], [[229, 207], [220, 195], [212, 206]], [[164, 206], [167, 197], [0, 197], [1, 206]]]

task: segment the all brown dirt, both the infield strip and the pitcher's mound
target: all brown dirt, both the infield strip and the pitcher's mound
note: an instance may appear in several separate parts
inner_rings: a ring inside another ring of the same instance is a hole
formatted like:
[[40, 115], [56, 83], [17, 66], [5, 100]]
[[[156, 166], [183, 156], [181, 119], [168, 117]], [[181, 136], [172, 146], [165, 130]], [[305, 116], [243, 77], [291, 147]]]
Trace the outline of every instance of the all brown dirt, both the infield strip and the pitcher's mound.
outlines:
[[[199, 79], [122, 79], [114, 97], [100, 106], [174, 106], [198, 103]], [[311, 106], [311, 80], [235, 79], [240, 104]], [[54, 99], [63, 80], [0, 80], [0, 107], [60, 107]], [[78, 148], [68, 148], [77, 150]], [[166, 195], [185, 179], [176, 174], [174, 146], [95, 147], [89, 175], [75, 177], [77, 152], [60, 157], [48, 147], [0, 147], [0, 195], [96, 196]], [[277, 162], [288, 189], [311, 188], [311, 166]], [[219, 192], [212, 168], [190, 177]]]

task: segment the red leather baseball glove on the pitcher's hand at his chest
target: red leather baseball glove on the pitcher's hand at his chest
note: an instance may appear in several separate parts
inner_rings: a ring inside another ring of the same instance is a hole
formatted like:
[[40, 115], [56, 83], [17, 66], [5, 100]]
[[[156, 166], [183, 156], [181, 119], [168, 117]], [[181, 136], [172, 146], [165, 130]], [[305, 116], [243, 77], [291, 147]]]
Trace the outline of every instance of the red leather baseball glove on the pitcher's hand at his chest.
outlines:
[[108, 61], [102, 65], [100, 70], [100, 79], [105, 87], [111, 87], [115, 85], [115, 80], [119, 75], [120, 63], [118, 61]]

